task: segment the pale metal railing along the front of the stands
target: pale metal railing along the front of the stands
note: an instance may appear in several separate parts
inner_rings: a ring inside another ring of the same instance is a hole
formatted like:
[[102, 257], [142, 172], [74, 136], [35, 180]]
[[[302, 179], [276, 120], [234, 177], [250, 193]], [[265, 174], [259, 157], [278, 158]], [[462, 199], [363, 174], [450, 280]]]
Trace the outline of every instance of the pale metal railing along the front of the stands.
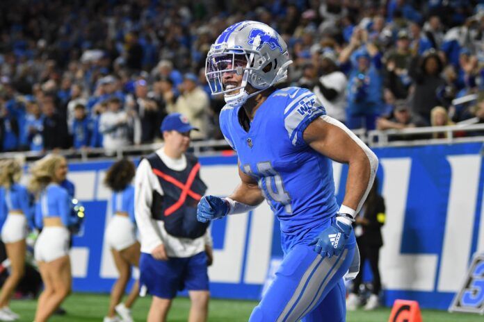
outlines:
[[[419, 146], [427, 144], [449, 144], [458, 142], [484, 142], [484, 124], [458, 124], [455, 126], [434, 126], [426, 128], [405, 128], [403, 130], [371, 130], [366, 132], [363, 128], [353, 130], [353, 133], [360, 137], [363, 142], [373, 147], [381, 146]], [[446, 133], [442, 139], [430, 138], [434, 133]], [[456, 133], [458, 135], [456, 136]], [[459, 135], [476, 134], [478, 136], [459, 137]], [[408, 138], [408, 139], [402, 139]], [[133, 146], [122, 146], [115, 151], [108, 152], [103, 148], [88, 149], [66, 149], [56, 150], [56, 153], [64, 155], [69, 160], [99, 160], [122, 158], [124, 156], [147, 155], [163, 146], [163, 142], [152, 144], [140, 144]], [[204, 141], [191, 142], [191, 149], [195, 155], [209, 156], [230, 154], [232, 149], [224, 139], [208, 139]], [[40, 151], [22, 151], [0, 153], [3, 158], [22, 158], [26, 162], [38, 160], [45, 153]]]

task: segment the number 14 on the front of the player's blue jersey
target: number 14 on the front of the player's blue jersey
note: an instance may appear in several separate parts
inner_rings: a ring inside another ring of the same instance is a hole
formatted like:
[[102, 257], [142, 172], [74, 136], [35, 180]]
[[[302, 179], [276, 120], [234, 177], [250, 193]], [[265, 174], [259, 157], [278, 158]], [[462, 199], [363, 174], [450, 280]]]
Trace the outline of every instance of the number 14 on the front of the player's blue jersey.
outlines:
[[[250, 169], [249, 164], [245, 164], [243, 166], [243, 170], [245, 173], [252, 173], [252, 169]], [[280, 174], [274, 170], [271, 162], [257, 163], [257, 171], [259, 171], [260, 175], [262, 176], [262, 178], [259, 179], [259, 188], [262, 192], [264, 192], [266, 198], [277, 203], [282, 203], [286, 212], [291, 214], [291, 197], [286, 189], [284, 189], [282, 178]]]

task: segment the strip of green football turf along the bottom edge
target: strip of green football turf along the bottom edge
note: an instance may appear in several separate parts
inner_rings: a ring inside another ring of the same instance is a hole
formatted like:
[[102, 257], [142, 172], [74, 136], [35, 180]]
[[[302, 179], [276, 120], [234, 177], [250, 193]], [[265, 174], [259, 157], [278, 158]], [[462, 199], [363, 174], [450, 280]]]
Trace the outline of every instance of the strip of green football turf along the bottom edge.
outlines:
[[[65, 316], [54, 316], [51, 319], [53, 322], [61, 321], [102, 321], [106, 314], [108, 307], [107, 294], [72, 294], [63, 307], [67, 310]], [[209, 321], [213, 322], [242, 322], [248, 321], [252, 308], [257, 302], [243, 301], [243, 300], [211, 300]], [[33, 321], [35, 313], [35, 300], [13, 300], [10, 307], [15, 312], [21, 314], [19, 321]], [[150, 307], [150, 298], [140, 298], [133, 309], [133, 316], [135, 321], [146, 321], [148, 308]], [[186, 321], [188, 317], [188, 308], [190, 302], [187, 298], [177, 298], [172, 305], [172, 310], [168, 316], [170, 322]], [[389, 308], [381, 308], [372, 312], [364, 312], [358, 310], [356, 312], [348, 312], [348, 322], [379, 322], [388, 321], [390, 314]], [[435, 310], [423, 310], [422, 312], [424, 322], [440, 322], [440, 321], [462, 321], [474, 322], [484, 321], [483, 316], [471, 314], [448, 313]], [[331, 322], [331, 321], [328, 321]]]

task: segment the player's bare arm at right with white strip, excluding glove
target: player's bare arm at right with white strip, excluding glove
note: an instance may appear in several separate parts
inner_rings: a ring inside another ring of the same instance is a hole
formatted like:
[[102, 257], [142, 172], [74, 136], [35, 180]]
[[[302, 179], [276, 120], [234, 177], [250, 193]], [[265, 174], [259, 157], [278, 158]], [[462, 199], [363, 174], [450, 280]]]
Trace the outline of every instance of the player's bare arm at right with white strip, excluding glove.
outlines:
[[354, 218], [373, 184], [378, 158], [346, 126], [327, 115], [309, 124], [303, 138], [312, 149], [334, 161], [348, 164], [346, 194], [340, 212]]

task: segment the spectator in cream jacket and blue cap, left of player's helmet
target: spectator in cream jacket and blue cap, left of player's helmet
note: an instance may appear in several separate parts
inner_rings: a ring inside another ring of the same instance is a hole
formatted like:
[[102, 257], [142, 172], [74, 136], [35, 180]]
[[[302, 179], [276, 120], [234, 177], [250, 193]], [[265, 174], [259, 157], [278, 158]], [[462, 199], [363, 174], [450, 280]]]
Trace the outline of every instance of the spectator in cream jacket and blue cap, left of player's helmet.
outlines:
[[181, 95], [174, 101], [167, 98], [169, 112], [177, 112], [185, 115], [188, 121], [198, 128], [192, 139], [206, 139], [208, 130], [207, 113], [209, 112], [209, 96], [200, 86], [197, 85], [197, 76], [192, 73], [184, 75], [181, 84]]

